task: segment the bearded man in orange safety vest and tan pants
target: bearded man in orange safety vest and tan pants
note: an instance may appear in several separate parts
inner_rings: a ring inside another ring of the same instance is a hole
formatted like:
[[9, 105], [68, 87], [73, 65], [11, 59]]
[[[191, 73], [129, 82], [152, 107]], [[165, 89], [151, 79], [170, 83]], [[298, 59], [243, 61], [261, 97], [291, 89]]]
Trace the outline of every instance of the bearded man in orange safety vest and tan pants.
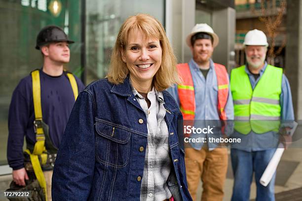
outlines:
[[[181, 108], [184, 125], [194, 124], [195, 128], [200, 128], [216, 124], [218, 132], [215, 133], [220, 137], [221, 121], [225, 123], [227, 119], [233, 119], [233, 101], [226, 67], [211, 59], [219, 42], [218, 35], [207, 24], [196, 24], [186, 42], [193, 58], [189, 64], [177, 66], [183, 82], [168, 91]], [[193, 138], [203, 136], [213, 137], [213, 134], [190, 135]], [[202, 200], [222, 201], [227, 173], [227, 149], [209, 143], [188, 146], [185, 163], [192, 199], [196, 200], [201, 179]]]

